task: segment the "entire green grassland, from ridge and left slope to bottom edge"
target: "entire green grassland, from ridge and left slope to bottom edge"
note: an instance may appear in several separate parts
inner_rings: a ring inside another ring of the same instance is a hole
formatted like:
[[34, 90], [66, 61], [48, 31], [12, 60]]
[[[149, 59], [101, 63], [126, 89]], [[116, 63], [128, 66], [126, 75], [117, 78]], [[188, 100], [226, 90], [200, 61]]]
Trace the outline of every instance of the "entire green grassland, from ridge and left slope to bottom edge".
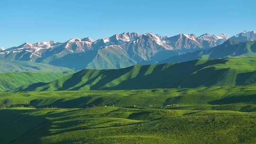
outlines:
[[255, 64], [0, 73], [0, 144], [254, 144]]

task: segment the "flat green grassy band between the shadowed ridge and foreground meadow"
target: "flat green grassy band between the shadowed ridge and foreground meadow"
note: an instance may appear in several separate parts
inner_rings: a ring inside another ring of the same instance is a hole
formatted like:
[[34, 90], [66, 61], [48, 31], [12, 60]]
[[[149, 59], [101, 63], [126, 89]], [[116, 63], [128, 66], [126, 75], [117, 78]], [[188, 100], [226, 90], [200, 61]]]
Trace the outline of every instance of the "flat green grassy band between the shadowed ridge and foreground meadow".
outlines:
[[[101, 91], [31, 91], [2, 92], [0, 104], [29, 104], [34, 107], [86, 108], [115, 105], [119, 107], [168, 104], [180, 106], [256, 104], [256, 86], [201, 87], [194, 89], [101, 90]], [[239, 107], [239, 108], [242, 108]], [[254, 107], [252, 107], [254, 108]], [[214, 109], [214, 108], [213, 108]], [[229, 109], [230, 110], [230, 109]], [[243, 110], [241, 110], [243, 111]]]

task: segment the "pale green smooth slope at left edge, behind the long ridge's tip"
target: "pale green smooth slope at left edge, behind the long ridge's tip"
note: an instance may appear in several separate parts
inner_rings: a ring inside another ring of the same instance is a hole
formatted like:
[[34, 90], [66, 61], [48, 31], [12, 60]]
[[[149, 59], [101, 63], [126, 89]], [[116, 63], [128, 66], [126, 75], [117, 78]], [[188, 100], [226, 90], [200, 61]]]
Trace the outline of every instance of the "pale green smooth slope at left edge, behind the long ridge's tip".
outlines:
[[50, 82], [66, 75], [67, 72], [0, 72], [0, 91], [16, 89], [36, 82]]

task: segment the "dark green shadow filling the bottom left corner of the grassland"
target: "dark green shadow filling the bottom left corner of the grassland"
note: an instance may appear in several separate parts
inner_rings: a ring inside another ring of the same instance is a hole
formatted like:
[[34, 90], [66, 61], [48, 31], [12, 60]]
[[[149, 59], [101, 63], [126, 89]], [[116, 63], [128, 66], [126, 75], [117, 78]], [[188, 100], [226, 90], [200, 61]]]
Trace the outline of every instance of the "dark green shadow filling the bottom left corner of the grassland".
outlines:
[[35, 109], [1, 109], [1, 144], [39, 144], [48, 135], [50, 121], [43, 116], [31, 116]]

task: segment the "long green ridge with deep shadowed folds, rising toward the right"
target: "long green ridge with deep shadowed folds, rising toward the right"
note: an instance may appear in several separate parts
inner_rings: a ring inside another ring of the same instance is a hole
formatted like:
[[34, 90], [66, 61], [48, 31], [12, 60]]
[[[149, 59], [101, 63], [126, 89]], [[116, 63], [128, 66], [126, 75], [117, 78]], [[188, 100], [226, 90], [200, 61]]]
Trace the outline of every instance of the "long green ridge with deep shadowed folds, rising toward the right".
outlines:
[[256, 83], [256, 57], [135, 65], [117, 70], [82, 70], [64, 78], [14, 91], [132, 90], [195, 88]]

